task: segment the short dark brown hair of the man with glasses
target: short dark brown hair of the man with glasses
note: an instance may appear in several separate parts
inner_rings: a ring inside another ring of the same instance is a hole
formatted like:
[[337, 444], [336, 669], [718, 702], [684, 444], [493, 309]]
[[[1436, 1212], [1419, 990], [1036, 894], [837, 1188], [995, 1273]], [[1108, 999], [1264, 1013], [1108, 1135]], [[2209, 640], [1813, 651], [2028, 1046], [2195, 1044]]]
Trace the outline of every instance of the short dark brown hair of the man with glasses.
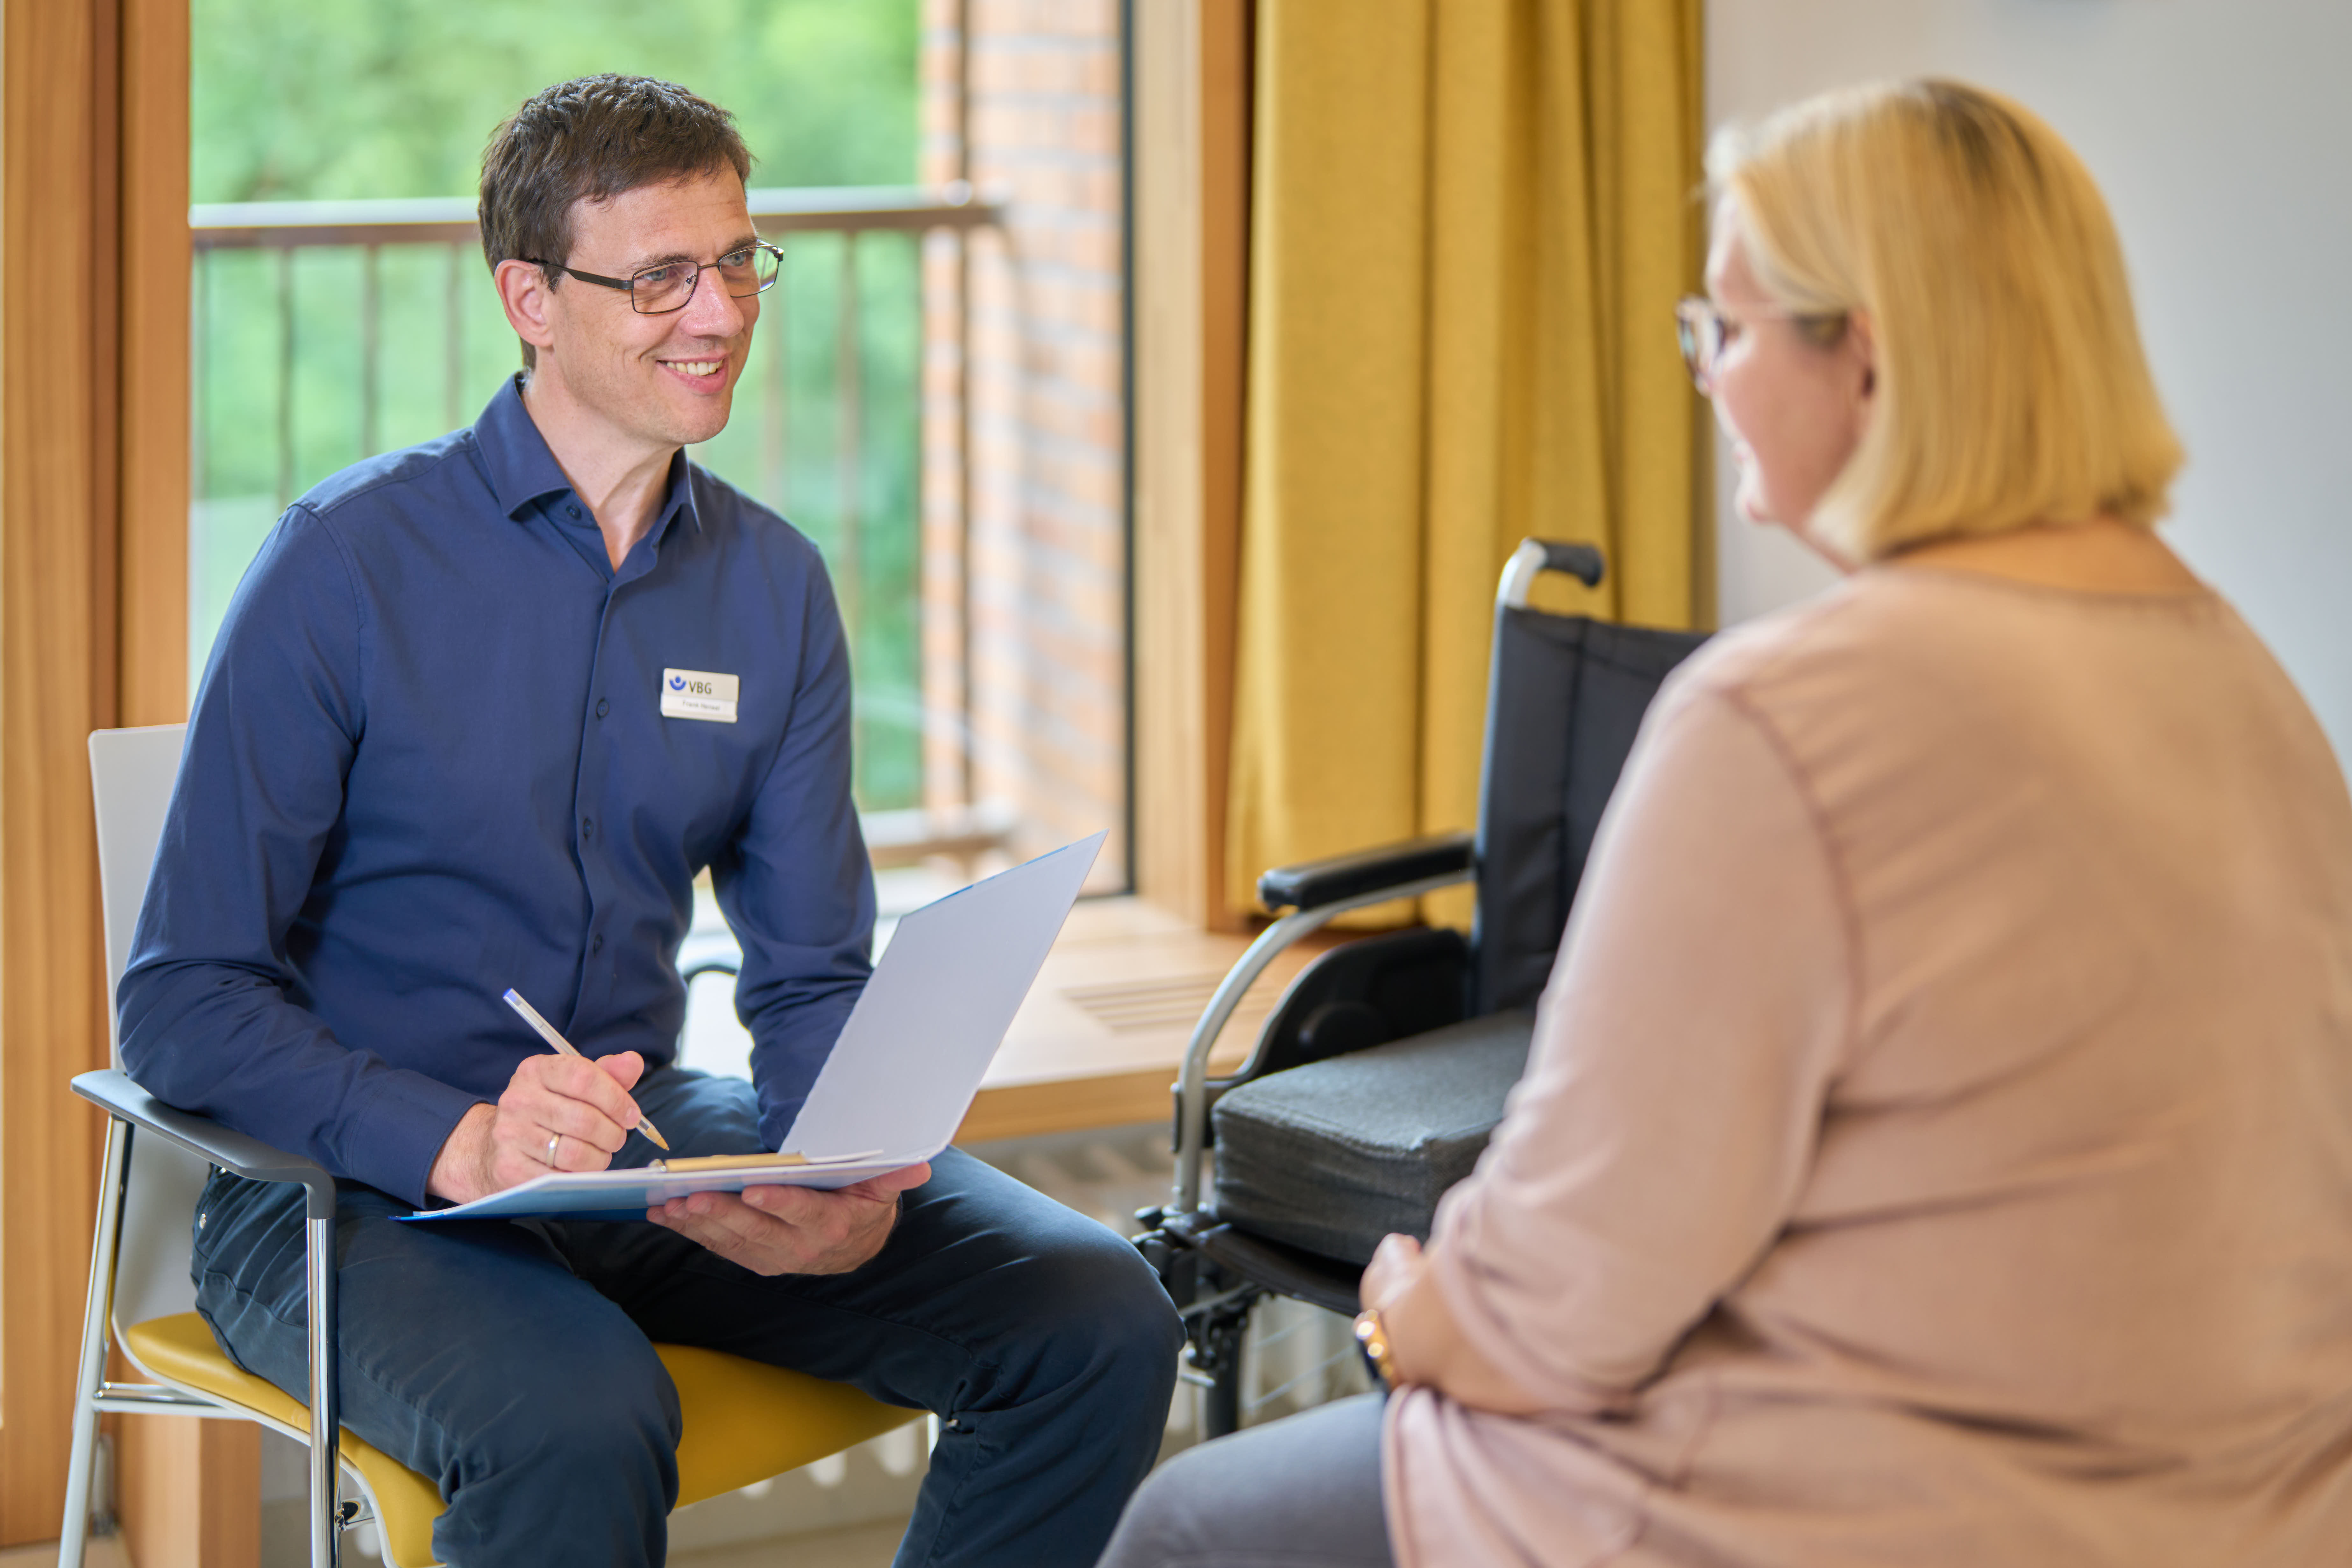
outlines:
[[[734, 115], [677, 82], [583, 75], [524, 99], [482, 148], [482, 259], [572, 259], [572, 205], [734, 169], [750, 183], [750, 148]], [[548, 277], [555, 287], [560, 275]], [[534, 362], [522, 346], [522, 364]]]

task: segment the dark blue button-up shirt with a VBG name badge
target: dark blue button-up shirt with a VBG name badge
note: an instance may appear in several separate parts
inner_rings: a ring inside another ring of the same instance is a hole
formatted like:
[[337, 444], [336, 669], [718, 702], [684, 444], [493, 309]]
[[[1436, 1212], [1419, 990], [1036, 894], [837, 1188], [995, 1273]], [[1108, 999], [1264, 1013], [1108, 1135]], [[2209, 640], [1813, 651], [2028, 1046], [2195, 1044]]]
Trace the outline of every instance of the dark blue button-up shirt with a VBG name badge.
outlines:
[[[663, 717], [666, 672], [739, 677]], [[677, 1056], [710, 867], [781, 1147], [868, 976], [849, 651], [816, 548], [670, 465], [614, 571], [508, 383], [287, 508], [221, 623], [118, 992], [122, 1060], [412, 1204], [543, 1051]]]

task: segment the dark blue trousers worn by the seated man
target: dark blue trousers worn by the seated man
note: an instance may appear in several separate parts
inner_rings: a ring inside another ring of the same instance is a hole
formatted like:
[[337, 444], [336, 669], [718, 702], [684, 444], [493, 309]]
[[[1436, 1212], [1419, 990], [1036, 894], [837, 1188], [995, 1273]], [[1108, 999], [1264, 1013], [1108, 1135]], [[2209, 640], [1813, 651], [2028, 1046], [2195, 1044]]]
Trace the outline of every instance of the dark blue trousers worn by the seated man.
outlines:
[[[750, 1084], [675, 1067], [637, 1103], [680, 1154], [760, 1147]], [[616, 1164], [654, 1150], [630, 1138]], [[306, 1389], [301, 1187], [214, 1175], [198, 1307], [221, 1347]], [[889, 1244], [835, 1276], [762, 1279], [659, 1225], [395, 1225], [346, 1182], [343, 1425], [440, 1481], [456, 1568], [654, 1566], [677, 1500], [677, 1392], [654, 1342], [708, 1345], [934, 1410], [898, 1563], [1094, 1563], [1150, 1469], [1183, 1338], [1136, 1251], [950, 1150]]]

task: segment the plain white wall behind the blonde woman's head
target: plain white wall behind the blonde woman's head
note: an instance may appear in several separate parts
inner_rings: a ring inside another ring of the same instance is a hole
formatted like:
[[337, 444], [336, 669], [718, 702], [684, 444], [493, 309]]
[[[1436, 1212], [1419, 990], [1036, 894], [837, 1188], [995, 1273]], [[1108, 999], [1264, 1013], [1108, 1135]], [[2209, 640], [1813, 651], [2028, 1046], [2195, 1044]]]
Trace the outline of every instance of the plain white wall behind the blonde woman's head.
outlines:
[[[2157, 386], [2190, 449], [2166, 536], [2352, 757], [2352, 2], [1710, 0], [1708, 118], [1940, 73], [2042, 113], [2124, 233]], [[1825, 571], [1731, 510], [1722, 618]]]

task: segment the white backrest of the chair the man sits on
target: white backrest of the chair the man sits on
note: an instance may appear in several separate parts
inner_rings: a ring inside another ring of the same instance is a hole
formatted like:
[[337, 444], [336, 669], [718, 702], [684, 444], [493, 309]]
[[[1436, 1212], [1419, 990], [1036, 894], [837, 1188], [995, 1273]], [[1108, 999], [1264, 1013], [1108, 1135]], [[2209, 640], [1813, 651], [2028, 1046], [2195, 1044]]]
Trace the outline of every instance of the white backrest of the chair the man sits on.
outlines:
[[[99, 896], [106, 907], [106, 1018], [115, 1067], [122, 1065], [113, 994], [129, 964], [132, 931], [146, 898], [155, 844], [179, 778], [186, 724], [101, 729], [89, 736], [89, 790], [99, 809]], [[129, 1324], [191, 1312], [188, 1225], [207, 1166], [160, 1138], [132, 1138], [122, 1239], [115, 1251], [120, 1335]]]

